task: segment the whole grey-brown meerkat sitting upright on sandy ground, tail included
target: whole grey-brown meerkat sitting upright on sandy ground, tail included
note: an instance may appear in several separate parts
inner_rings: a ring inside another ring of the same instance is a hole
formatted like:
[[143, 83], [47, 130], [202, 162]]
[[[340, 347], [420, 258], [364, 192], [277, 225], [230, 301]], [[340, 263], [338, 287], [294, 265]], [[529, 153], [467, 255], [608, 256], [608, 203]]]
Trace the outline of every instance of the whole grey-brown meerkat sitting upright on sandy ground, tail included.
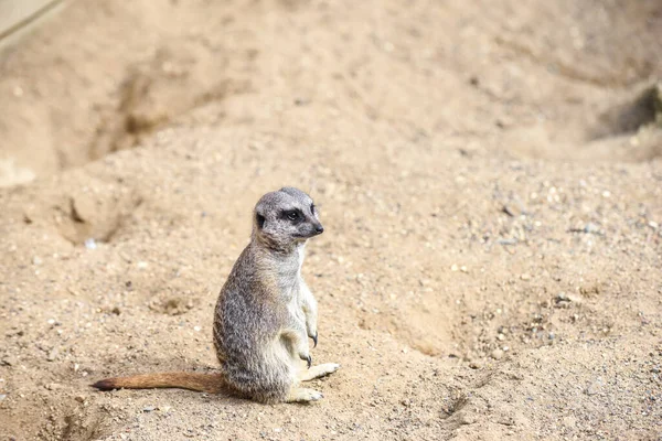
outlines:
[[306, 243], [322, 234], [312, 198], [295, 187], [265, 194], [253, 211], [250, 241], [223, 284], [213, 338], [221, 372], [160, 373], [107, 378], [100, 390], [183, 388], [227, 392], [265, 404], [317, 401], [302, 381], [340, 365], [312, 366], [318, 343], [317, 300], [301, 277]]

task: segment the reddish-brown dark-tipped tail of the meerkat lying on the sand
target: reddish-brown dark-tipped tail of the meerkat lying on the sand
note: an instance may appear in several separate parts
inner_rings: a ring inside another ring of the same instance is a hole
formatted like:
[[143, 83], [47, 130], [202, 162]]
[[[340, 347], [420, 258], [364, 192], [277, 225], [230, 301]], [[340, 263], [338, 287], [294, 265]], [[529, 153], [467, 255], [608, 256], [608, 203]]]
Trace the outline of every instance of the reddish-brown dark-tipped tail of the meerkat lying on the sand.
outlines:
[[224, 386], [225, 376], [223, 374], [194, 374], [184, 372], [114, 377], [102, 379], [92, 385], [92, 387], [96, 387], [99, 390], [178, 388], [207, 394], [220, 394], [225, 389]]

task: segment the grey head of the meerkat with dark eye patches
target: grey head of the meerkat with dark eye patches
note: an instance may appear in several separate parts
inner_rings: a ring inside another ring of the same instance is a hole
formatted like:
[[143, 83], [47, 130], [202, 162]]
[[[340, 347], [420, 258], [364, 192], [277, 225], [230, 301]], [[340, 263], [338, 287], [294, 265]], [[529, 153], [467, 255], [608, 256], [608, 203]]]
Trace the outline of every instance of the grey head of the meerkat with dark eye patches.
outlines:
[[312, 198], [287, 186], [260, 197], [253, 223], [254, 238], [278, 251], [290, 251], [324, 232]]

